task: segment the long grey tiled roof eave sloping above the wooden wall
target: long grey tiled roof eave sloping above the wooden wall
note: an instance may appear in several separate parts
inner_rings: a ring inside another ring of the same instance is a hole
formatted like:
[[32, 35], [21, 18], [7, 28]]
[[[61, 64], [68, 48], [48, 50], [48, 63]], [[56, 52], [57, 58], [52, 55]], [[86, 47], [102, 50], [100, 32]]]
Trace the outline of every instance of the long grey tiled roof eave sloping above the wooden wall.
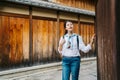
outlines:
[[84, 15], [89, 15], [89, 16], [95, 16], [94, 11], [73, 8], [69, 6], [55, 4], [52, 2], [34, 1], [34, 0], [5, 0], [5, 1], [25, 4], [25, 5], [31, 5], [31, 6], [37, 6], [37, 7], [43, 7], [43, 8], [49, 8], [49, 9], [55, 9], [55, 10], [61, 10], [61, 11], [67, 11], [67, 12], [72, 12], [72, 13], [79, 13], [79, 14], [84, 14]]

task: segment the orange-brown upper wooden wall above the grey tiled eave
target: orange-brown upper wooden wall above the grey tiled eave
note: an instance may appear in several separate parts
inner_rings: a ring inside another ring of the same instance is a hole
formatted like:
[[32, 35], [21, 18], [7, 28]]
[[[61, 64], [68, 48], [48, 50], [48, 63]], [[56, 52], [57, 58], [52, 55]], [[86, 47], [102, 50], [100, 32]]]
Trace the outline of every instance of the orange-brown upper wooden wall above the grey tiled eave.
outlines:
[[51, 0], [51, 1], [66, 6], [95, 11], [95, 0]]

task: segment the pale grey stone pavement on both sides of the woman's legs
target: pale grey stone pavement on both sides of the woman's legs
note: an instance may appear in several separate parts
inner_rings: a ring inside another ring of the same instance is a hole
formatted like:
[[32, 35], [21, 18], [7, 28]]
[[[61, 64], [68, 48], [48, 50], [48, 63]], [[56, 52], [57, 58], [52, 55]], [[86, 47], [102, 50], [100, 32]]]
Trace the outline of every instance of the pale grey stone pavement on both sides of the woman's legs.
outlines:
[[[0, 80], [61, 80], [61, 67]], [[96, 60], [81, 63], [79, 80], [97, 80]]]

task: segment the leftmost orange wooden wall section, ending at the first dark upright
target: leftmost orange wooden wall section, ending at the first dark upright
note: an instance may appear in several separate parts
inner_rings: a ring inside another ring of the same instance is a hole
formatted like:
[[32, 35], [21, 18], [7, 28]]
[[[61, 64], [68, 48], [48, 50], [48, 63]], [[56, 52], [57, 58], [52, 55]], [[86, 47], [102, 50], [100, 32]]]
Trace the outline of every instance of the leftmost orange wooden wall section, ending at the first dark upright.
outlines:
[[0, 33], [2, 66], [29, 60], [29, 19], [0, 16]]

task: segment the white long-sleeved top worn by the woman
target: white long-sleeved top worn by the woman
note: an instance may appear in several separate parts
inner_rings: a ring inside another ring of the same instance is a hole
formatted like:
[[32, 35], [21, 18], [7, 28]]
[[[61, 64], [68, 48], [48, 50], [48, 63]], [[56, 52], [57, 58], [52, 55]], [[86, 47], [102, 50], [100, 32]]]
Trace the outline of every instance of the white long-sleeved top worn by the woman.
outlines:
[[[63, 44], [62, 51], [59, 51], [59, 53], [62, 54], [62, 56], [68, 56], [68, 57], [74, 57], [74, 56], [80, 56], [79, 50], [83, 51], [84, 53], [87, 53], [89, 50], [91, 50], [90, 44], [85, 46], [82, 37], [78, 36], [79, 39], [79, 48], [77, 43], [77, 34], [73, 33], [71, 36], [68, 34], [64, 35], [65, 43]], [[61, 43], [63, 39], [63, 36], [60, 38], [59, 43]], [[78, 50], [79, 49], [79, 50]]]

